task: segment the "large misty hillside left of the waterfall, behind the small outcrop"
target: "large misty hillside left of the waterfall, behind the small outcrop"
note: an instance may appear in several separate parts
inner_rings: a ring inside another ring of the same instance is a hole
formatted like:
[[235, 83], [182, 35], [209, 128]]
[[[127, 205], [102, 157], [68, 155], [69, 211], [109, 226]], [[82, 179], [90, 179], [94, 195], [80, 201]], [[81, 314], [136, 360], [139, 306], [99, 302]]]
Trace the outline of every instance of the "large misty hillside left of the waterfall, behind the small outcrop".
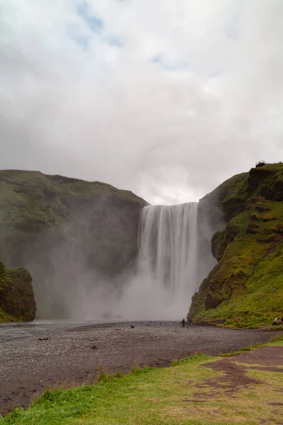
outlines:
[[68, 316], [78, 297], [134, 263], [144, 205], [98, 181], [0, 171], [0, 260], [28, 268], [40, 316]]

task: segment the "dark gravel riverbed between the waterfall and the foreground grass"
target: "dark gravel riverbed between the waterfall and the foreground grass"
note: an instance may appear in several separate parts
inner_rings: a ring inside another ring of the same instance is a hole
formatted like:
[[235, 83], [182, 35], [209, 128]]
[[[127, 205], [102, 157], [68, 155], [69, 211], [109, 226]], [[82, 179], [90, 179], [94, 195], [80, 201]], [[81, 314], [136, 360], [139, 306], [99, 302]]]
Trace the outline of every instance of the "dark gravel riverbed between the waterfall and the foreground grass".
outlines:
[[42, 332], [47, 335], [47, 341], [39, 341], [38, 334], [1, 341], [0, 414], [28, 407], [48, 386], [92, 382], [100, 363], [108, 372], [127, 372], [137, 360], [141, 365], [170, 365], [174, 358], [198, 351], [217, 355], [264, 343], [278, 333], [139, 322]]

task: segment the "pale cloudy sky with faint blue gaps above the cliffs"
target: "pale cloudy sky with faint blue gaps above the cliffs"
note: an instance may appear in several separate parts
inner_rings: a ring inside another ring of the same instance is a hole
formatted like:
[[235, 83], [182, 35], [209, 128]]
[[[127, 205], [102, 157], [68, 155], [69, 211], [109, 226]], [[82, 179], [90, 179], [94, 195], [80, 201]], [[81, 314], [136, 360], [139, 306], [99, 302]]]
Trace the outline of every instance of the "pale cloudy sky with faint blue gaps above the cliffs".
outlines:
[[0, 0], [0, 169], [198, 200], [283, 161], [282, 0]]

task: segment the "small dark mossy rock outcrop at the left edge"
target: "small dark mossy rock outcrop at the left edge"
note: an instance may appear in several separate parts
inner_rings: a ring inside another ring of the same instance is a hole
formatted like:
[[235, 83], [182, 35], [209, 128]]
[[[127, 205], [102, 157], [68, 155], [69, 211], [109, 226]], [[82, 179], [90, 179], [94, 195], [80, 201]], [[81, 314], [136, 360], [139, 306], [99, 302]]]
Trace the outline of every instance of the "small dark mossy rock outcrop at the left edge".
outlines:
[[25, 268], [9, 270], [0, 261], [0, 322], [30, 321], [35, 312], [30, 273]]

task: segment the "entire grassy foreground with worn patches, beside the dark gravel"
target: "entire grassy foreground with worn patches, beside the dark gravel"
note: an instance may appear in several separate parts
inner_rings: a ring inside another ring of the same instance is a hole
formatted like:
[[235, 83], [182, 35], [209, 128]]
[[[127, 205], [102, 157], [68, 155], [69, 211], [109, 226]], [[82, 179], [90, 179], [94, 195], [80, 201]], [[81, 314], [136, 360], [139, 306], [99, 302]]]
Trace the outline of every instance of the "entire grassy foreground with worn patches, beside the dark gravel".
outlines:
[[[270, 346], [283, 346], [278, 338]], [[101, 369], [96, 385], [47, 390], [29, 409], [16, 409], [1, 425], [258, 425], [275, 424], [283, 414], [275, 407], [283, 389], [283, 373], [254, 370], [260, 384], [229, 392], [209, 382], [223, 373], [206, 367], [216, 361], [197, 354], [175, 361], [171, 368], [132, 370], [107, 375]], [[240, 364], [240, 363], [239, 363]], [[242, 364], [242, 363], [241, 363]], [[103, 373], [101, 373], [101, 371]]]

